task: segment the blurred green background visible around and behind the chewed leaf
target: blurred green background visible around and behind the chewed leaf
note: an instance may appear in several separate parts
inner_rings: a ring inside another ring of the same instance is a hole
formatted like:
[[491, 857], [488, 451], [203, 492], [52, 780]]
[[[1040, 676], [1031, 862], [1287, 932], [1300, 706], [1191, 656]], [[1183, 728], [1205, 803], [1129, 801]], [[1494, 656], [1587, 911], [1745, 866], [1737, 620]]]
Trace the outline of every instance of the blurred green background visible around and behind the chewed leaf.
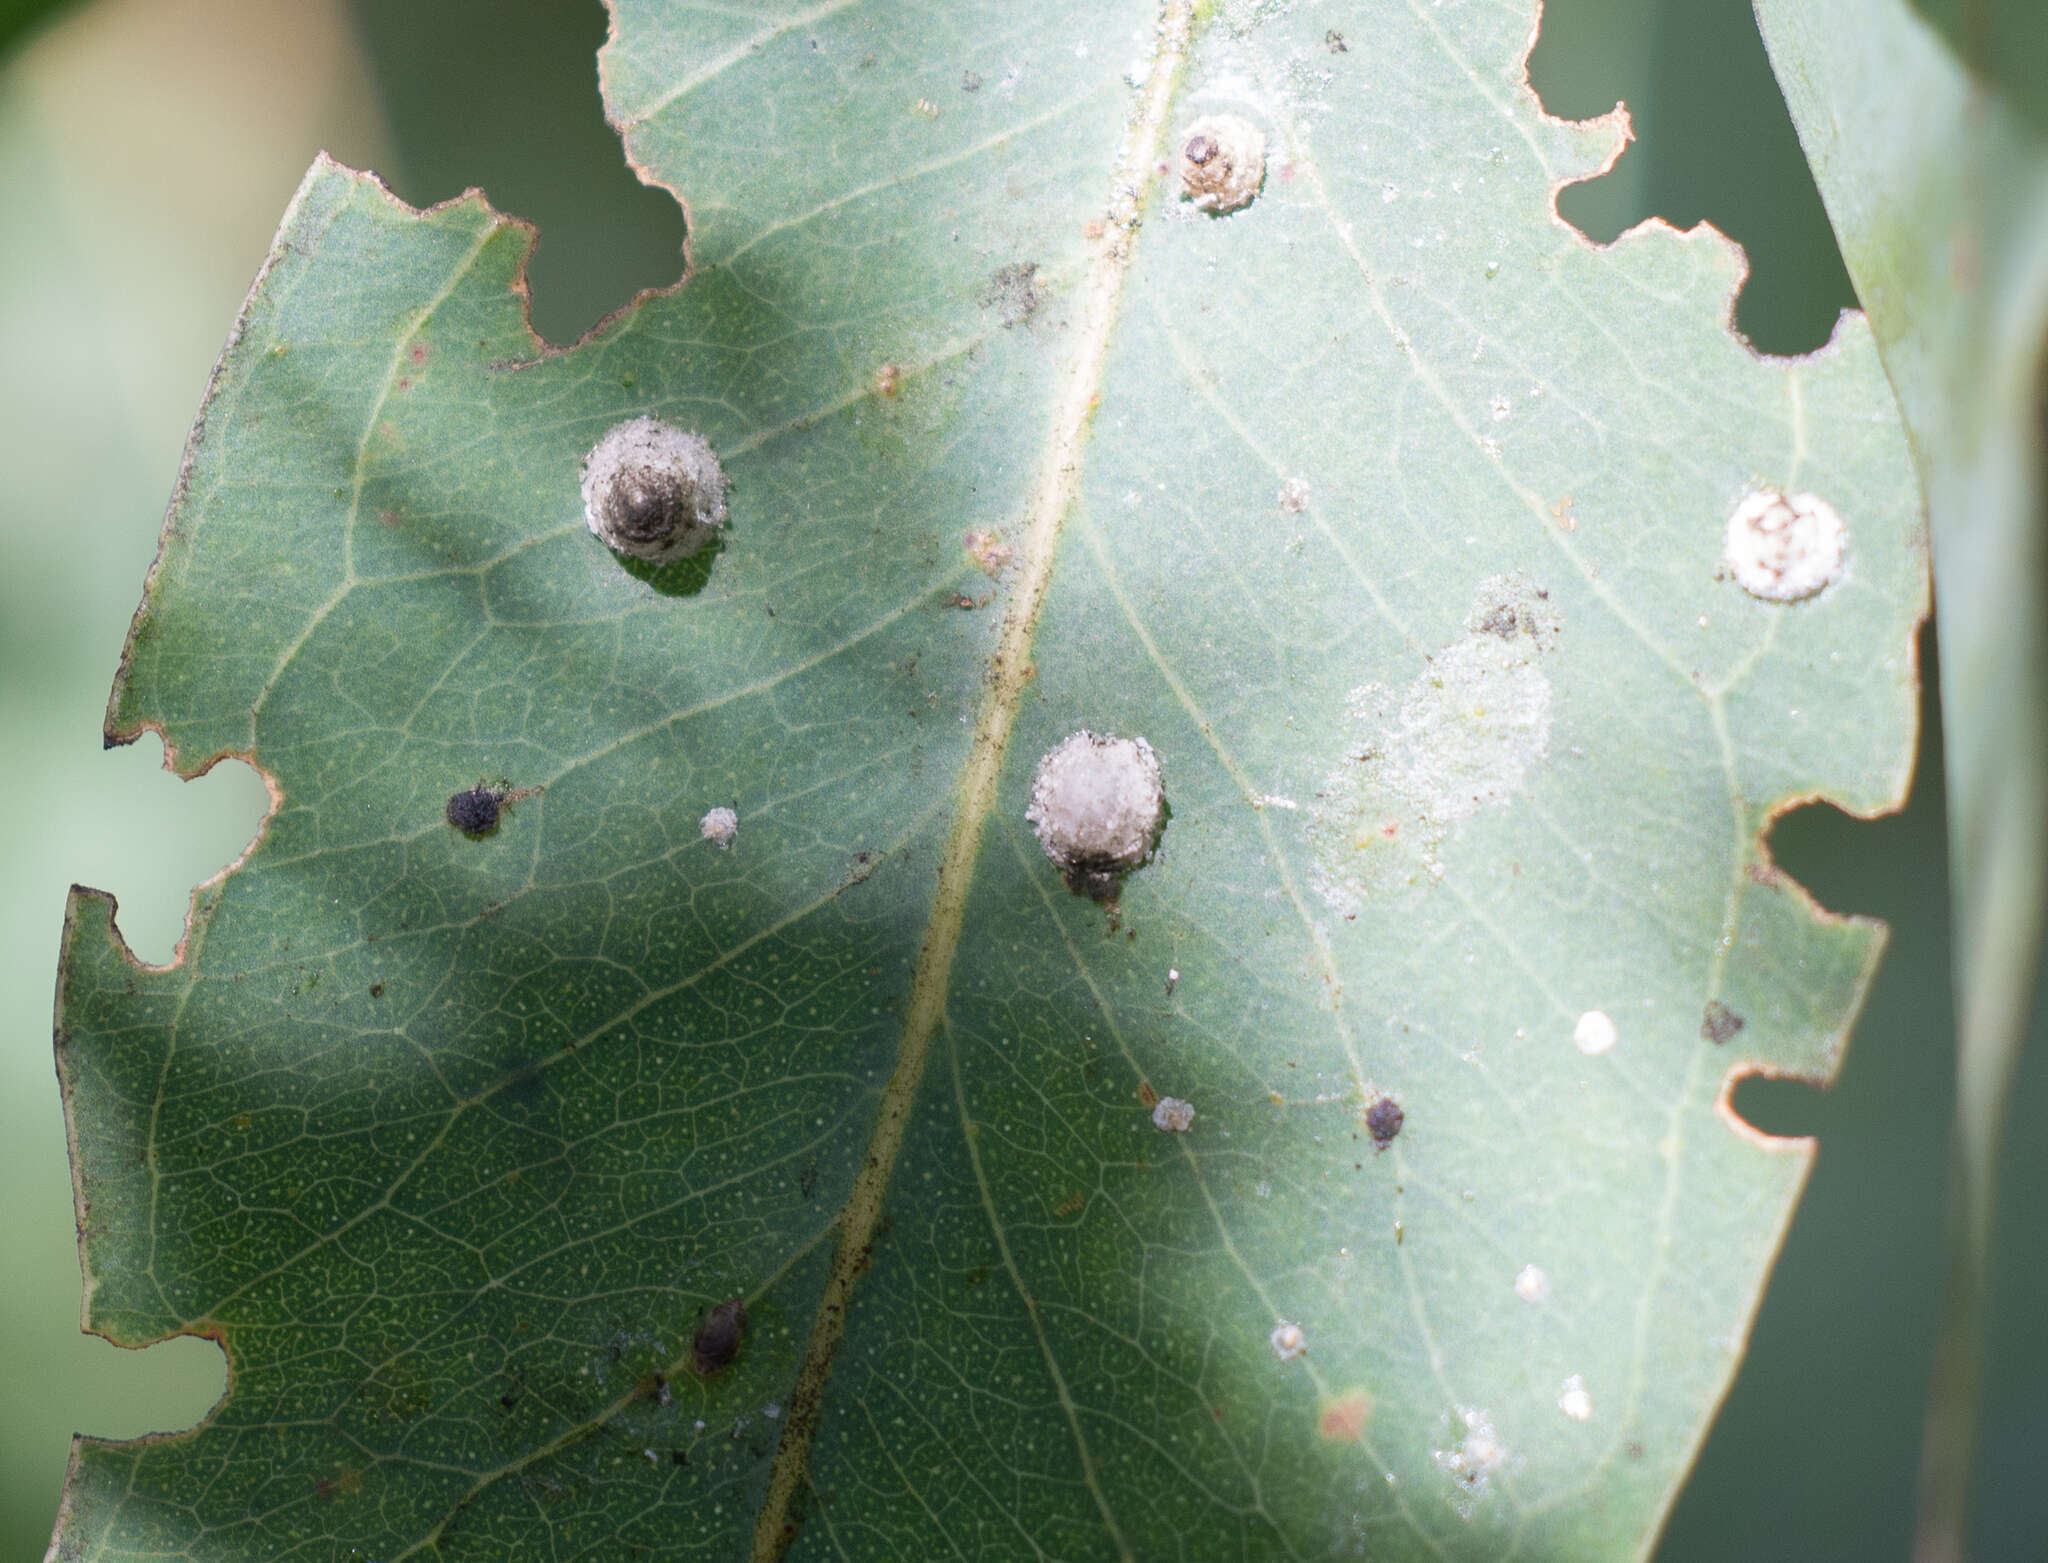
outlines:
[[[602, 123], [598, 0], [0, 0], [0, 1563], [49, 1538], [72, 1430], [182, 1428], [223, 1389], [197, 1340], [78, 1334], [49, 994], [63, 889], [121, 899], [166, 961], [190, 887], [248, 842], [262, 787], [180, 785], [162, 746], [100, 752], [100, 709], [207, 369], [315, 150], [414, 203], [481, 184], [539, 223], [535, 324], [571, 340], [680, 272], [682, 221]], [[1747, 0], [1548, 0], [1530, 76], [1559, 115], [1626, 98], [1636, 143], [1563, 213], [1595, 240], [1663, 215], [1749, 250], [1737, 326], [1821, 346], [1853, 303]], [[1923, 641], [1931, 674], [1933, 637]], [[1929, 678], [1931, 688], [1931, 678]], [[1784, 819], [1780, 860], [1892, 946], [1827, 1094], [1739, 1108], [1821, 1157], [1741, 1377], [1661, 1563], [1905, 1559], [1942, 1274], [1952, 1108], [1937, 713], [1911, 807]], [[2040, 1026], [2036, 1026], [2040, 1030]], [[2048, 1053], [2007, 1141], [1978, 1559], [2048, 1557]]]

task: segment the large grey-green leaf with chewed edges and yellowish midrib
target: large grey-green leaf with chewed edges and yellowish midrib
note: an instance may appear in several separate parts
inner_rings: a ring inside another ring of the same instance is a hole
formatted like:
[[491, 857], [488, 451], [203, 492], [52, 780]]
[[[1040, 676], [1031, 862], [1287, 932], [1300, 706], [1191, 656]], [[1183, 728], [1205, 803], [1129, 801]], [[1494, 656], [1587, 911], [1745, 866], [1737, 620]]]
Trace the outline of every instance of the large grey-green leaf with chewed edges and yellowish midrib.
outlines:
[[[309, 174], [111, 709], [279, 805], [59, 994], [90, 1323], [231, 1391], [59, 1555], [1649, 1549], [1810, 1153], [1724, 1092], [1880, 944], [1761, 832], [1901, 797], [1925, 565], [1862, 322], [1761, 361], [1718, 236], [1563, 225], [1622, 125], [1532, 31], [618, 0], [692, 274], [563, 352], [516, 223]], [[733, 479], [659, 572], [578, 494], [647, 412]], [[1761, 488], [1808, 600], [1722, 578]], [[1114, 907], [1024, 819], [1079, 727], [1165, 774]]]

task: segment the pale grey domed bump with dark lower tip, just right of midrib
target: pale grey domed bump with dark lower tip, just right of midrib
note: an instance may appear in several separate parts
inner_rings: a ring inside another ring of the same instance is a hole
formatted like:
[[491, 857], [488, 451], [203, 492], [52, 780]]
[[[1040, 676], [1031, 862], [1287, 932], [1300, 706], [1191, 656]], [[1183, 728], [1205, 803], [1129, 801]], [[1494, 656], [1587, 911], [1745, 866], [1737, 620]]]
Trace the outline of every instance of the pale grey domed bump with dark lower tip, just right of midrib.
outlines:
[[1067, 889], [1108, 901], [1159, 838], [1159, 756], [1143, 737], [1069, 733], [1038, 760], [1024, 817]]

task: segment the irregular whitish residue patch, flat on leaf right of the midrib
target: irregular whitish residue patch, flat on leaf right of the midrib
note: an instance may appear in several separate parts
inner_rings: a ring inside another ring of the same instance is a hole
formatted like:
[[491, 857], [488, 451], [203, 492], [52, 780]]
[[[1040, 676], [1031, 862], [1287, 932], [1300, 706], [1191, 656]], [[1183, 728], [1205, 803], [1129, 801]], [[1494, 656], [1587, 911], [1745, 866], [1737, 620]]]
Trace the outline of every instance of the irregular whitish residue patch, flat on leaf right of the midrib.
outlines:
[[1540, 660], [1559, 617], [1548, 592], [1491, 576], [1464, 631], [1399, 696], [1378, 684], [1352, 690], [1352, 742], [1307, 826], [1315, 887], [1346, 916], [1434, 879], [1450, 828], [1507, 803], [1550, 750]]

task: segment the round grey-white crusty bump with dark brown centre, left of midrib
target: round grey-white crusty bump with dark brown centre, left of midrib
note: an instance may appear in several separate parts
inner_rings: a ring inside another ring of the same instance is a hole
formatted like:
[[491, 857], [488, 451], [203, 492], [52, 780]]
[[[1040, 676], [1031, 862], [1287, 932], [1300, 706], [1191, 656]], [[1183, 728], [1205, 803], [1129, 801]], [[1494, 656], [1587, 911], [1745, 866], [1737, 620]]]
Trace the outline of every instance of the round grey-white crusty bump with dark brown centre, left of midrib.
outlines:
[[688, 559], [725, 531], [725, 469], [702, 434], [629, 418], [584, 457], [584, 520], [633, 559]]

